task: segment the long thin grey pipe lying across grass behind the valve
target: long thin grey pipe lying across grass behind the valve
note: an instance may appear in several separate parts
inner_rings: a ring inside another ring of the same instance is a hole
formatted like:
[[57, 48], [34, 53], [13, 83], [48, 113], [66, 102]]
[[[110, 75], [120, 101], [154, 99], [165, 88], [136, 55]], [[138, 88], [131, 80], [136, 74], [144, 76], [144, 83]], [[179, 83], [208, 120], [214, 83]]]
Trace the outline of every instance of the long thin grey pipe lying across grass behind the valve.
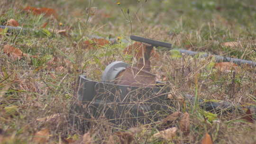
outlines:
[[[23, 28], [23, 27], [11, 27], [11, 26], [0, 26], [0, 28], [8, 28], [8, 29], [12, 29], [12, 30], [31, 30], [33, 31], [33, 29], [28, 29], [28, 28]], [[137, 38], [138, 36], [132, 36], [132, 38]], [[103, 38], [103, 37], [102, 37]], [[145, 38], [146, 39], [146, 38]], [[144, 40], [145, 40], [144, 39]], [[148, 41], [150, 41], [150, 39], [146, 39]], [[167, 45], [167, 43], [161, 43], [163, 45]], [[169, 44], [171, 45], [171, 44]], [[169, 47], [169, 45], [167, 45], [166, 47]], [[189, 50], [184, 50], [184, 49], [175, 49], [175, 50], [178, 50], [180, 53], [182, 54], [188, 54], [188, 55], [196, 55], [200, 52], [194, 52], [194, 51], [189, 51]], [[202, 57], [208, 57], [210, 56], [211, 54], [202, 54], [201, 56]], [[249, 65], [252, 65], [252, 66], [256, 66], [256, 62], [253, 62], [253, 61], [247, 61], [247, 60], [242, 60], [242, 59], [237, 59], [237, 58], [231, 58], [231, 57], [224, 57], [224, 56], [220, 56], [220, 55], [212, 55], [216, 58], [216, 61], [225, 61], [225, 62], [233, 62], [233, 63], [236, 63], [236, 64], [249, 64]]]

